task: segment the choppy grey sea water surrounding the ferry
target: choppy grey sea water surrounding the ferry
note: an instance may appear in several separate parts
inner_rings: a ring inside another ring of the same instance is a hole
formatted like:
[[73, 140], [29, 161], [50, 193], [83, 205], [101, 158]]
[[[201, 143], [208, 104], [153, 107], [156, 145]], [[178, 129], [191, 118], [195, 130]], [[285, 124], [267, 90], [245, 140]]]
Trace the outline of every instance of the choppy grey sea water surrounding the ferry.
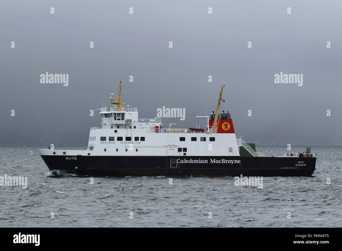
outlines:
[[[258, 147], [258, 151], [265, 156], [280, 155], [286, 146]], [[163, 176], [93, 177], [91, 184], [89, 177], [62, 172], [54, 175], [35, 147], [0, 147], [0, 176], [28, 177], [26, 189], [1, 187], [0, 224], [341, 227], [342, 147], [312, 146], [312, 151], [318, 153], [313, 177], [264, 177], [263, 188], [258, 189], [235, 186], [232, 177], [173, 178], [172, 184]], [[29, 159], [18, 157], [27, 155]], [[327, 184], [328, 178], [331, 184]], [[51, 219], [51, 213], [55, 219]]]

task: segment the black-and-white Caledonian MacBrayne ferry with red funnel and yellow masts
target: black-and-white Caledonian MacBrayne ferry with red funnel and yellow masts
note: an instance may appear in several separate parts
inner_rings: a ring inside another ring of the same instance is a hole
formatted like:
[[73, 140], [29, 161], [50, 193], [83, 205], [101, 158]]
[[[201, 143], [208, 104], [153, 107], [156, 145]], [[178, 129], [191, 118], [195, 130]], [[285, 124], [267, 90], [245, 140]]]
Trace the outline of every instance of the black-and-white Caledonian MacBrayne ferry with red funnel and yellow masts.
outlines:
[[[265, 157], [255, 144], [236, 137], [231, 114], [220, 113], [222, 93], [206, 118], [206, 128], [164, 128], [161, 117], [139, 118], [138, 109], [110, 96], [112, 107], [98, 109], [101, 127], [91, 127], [87, 150], [39, 149], [54, 174], [113, 177], [312, 176], [316, 154]], [[95, 109], [95, 108], [94, 108]]]

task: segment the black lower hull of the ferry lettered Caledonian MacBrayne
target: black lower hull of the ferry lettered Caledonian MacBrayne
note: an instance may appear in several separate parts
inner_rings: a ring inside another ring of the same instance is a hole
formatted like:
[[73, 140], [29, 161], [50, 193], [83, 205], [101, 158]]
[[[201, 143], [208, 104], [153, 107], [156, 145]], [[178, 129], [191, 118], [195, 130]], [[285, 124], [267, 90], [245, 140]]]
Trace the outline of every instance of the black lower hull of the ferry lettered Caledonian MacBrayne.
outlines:
[[[88, 176], [312, 176], [316, 158], [41, 155], [50, 170]], [[191, 163], [184, 163], [184, 162]]]

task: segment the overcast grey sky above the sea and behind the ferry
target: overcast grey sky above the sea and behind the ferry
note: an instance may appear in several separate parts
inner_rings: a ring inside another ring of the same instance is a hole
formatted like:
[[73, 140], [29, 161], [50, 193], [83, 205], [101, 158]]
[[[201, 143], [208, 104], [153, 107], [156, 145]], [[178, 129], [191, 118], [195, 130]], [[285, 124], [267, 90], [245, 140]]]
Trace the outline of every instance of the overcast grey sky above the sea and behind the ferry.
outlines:
[[[123, 102], [140, 118], [162, 106], [186, 114], [213, 106], [225, 84], [223, 110], [247, 142], [341, 145], [341, 9], [341, 1], [3, 0], [0, 144], [86, 147], [101, 122], [89, 110], [108, 107], [123, 79]], [[41, 84], [46, 71], [68, 73], [69, 85]], [[303, 74], [303, 86], [275, 84], [281, 71]], [[212, 110], [172, 123], [195, 127]]]

